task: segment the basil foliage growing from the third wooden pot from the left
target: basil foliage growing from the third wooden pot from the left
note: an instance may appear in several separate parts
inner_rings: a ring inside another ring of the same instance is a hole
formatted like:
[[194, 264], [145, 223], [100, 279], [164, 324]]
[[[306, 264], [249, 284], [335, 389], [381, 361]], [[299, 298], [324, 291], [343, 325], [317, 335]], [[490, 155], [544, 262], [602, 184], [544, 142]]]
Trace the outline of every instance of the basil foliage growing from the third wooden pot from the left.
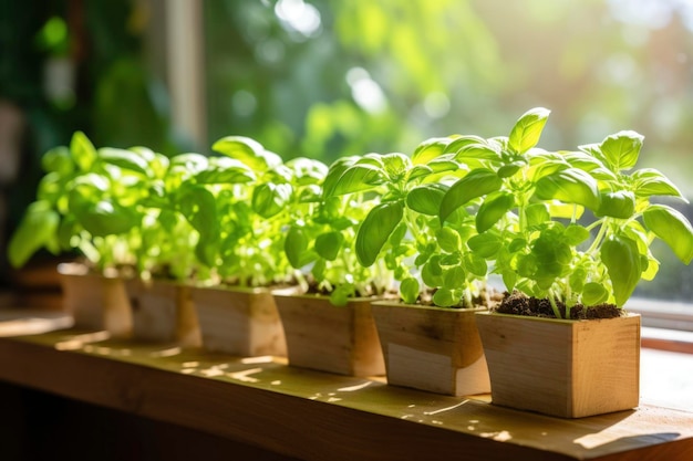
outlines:
[[183, 156], [187, 174], [173, 193], [175, 209], [198, 235], [197, 259], [209, 270], [198, 281], [254, 287], [300, 283], [283, 241], [294, 210], [304, 207], [306, 190], [327, 167], [308, 159], [285, 164], [242, 136], [221, 138], [213, 149], [221, 155]]

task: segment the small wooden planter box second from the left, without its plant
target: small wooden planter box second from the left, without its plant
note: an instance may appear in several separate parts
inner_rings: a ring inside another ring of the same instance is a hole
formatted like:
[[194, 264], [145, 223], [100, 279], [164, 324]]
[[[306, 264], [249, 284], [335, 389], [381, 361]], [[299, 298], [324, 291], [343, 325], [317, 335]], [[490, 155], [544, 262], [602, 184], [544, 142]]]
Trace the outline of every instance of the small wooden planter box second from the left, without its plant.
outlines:
[[133, 311], [133, 337], [152, 343], [201, 344], [190, 287], [172, 281], [126, 283]]

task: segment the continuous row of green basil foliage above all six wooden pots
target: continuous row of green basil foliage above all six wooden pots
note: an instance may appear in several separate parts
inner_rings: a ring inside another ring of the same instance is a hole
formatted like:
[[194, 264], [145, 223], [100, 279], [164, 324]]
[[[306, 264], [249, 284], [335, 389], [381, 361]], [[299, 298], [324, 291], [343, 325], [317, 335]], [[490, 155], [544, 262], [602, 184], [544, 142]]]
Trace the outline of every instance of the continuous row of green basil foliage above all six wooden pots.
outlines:
[[23, 264], [45, 247], [76, 248], [101, 270], [245, 286], [310, 285], [333, 303], [399, 286], [405, 303], [487, 303], [488, 279], [548, 298], [557, 317], [581, 303], [622, 306], [655, 276], [664, 241], [684, 263], [693, 228], [660, 171], [634, 169], [643, 137], [620, 132], [576, 150], [537, 147], [549, 111], [508, 136], [455, 135], [327, 166], [283, 161], [228, 136], [219, 154], [165, 157], [95, 149], [76, 133], [48, 171], [10, 243]]

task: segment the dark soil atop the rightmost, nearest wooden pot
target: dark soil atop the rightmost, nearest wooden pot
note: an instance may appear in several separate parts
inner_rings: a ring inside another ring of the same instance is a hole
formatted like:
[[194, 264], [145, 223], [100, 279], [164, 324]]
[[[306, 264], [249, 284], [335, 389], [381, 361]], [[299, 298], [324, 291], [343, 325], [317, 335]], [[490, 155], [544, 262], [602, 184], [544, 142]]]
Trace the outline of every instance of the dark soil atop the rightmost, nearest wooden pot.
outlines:
[[[566, 311], [566, 305], [561, 302], [556, 303], [559, 311]], [[511, 294], [504, 293], [504, 298], [495, 308], [500, 314], [527, 315], [534, 317], [556, 318], [549, 300], [527, 296], [524, 293], [514, 291]], [[613, 304], [598, 304], [596, 306], [586, 307], [577, 304], [570, 307], [571, 319], [590, 319], [590, 318], [614, 318], [625, 315], [625, 311]]]

